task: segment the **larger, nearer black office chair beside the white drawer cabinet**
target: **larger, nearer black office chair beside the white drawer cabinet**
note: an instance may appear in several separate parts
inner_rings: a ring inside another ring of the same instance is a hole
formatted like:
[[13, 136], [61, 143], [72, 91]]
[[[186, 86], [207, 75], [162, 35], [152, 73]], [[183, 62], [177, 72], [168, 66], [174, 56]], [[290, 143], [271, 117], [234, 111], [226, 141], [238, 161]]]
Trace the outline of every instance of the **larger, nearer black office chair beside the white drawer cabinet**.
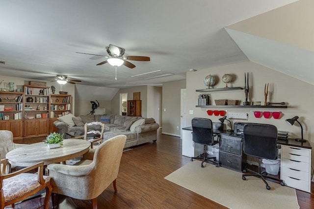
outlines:
[[242, 179], [246, 180], [246, 176], [256, 176], [265, 183], [266, 189], [271, 187], [265, 181], [265, 178], [273, 179], [280, 181], [282, 186], [285, 186], [283, 180], [273, 178], [271, 176], [263, 175], [261, 172], [261, 162], [262, 159], [276, 160], [278, 157], [278, 145], [277, 145], [277, 135], [278, 131], [276, 126], [270, 124], [261, 124], [261, 123], [247, 123], [243, 128], [244, 142], [243, 150], [246, 155], [257, 157], [259, 159], [258, 172], [252, 171], [245, 168], [243, 171], [249, 171], [251, 174], [242, 174]]

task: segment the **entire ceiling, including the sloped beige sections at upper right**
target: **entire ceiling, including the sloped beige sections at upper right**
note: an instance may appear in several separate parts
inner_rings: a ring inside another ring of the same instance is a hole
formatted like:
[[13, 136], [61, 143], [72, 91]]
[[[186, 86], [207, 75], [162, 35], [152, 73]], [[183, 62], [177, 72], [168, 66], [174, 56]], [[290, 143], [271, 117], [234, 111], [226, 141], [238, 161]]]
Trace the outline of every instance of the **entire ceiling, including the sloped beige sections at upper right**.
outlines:
[[[250, 60], [314, 84], [312, 0], [0, 2], [0, 75], [123, 88]], [[118, 67], [115, 81], [114, 67], [96, 66], [105, 57], [75, 53], [107, 55], [109, 44], [151, 61]]]

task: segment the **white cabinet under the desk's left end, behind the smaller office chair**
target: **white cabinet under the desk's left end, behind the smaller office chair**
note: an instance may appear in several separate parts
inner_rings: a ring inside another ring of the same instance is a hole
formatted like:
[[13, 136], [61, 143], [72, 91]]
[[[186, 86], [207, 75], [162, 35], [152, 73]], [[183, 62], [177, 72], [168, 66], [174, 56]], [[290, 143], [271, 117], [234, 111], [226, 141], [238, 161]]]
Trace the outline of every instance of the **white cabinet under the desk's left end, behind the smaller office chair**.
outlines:
[[204, 153], [204, 146], [194, 143], [191, 130], [182, 130], [182, 155], [186, 157], [197, 157]]

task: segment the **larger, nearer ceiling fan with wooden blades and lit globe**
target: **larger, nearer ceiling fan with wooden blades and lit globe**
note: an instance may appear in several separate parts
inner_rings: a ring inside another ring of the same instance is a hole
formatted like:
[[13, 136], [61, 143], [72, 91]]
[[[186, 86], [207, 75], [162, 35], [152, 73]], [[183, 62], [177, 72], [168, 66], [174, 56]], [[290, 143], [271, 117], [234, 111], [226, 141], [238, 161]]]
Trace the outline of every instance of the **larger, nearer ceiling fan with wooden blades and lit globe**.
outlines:
[[105, 63], [109, 63], [112, 66], [121, 66], [124, 65], [128, 68], [135, 68], [135, 65], [133, 65], [128, 60], [132, 61], [151, 61], [149, 57], [146, 56], [124, 56], [125, 49], [119, 46], [114, 46], [112, 44], [109, 44], [109, 46], [106, 46], [106, 50], [109, 56], [106, 55], [100, 55], [100, 54], [89, 54], [89, 53], [83, 53], [83, 52], [76, 52], [79, 54], [89, 54], [89, 55], [95, 55], [95, 56], [102, 56], [105, 58], [108, 58], [107, 60], [98, 63], [97, 65], [104, 65]]

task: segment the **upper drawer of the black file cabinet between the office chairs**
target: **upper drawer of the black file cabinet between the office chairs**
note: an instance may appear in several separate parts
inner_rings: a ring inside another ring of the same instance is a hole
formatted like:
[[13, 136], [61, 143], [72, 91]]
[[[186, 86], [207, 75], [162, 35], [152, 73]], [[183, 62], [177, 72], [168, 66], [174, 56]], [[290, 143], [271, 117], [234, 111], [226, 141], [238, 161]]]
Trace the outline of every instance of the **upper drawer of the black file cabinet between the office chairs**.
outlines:
[[219, 150], [235, 155], [242, 154], [242, 142], [240, 138], [221, 136]]

